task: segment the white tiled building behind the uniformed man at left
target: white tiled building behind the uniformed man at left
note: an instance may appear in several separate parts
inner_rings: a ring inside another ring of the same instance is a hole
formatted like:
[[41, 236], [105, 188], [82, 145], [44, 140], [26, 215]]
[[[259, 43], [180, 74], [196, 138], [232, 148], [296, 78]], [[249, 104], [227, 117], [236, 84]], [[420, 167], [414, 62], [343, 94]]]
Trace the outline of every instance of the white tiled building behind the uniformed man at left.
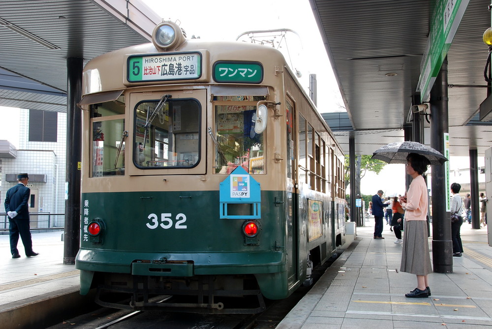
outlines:
[[[30, 212], [41, 213], [31, 214], [31, 227], [62, 228], [64, 216], [51, 214], [65, 212], [66, 113], [21, 109], [19, 121], [19, 148], [0, 140], [0, 213], [5, 213], [5, 193], [17, 184], [17, 174], [28, 173]], [[6, 219], [0, 217], [0, 228], [8, 227]]]

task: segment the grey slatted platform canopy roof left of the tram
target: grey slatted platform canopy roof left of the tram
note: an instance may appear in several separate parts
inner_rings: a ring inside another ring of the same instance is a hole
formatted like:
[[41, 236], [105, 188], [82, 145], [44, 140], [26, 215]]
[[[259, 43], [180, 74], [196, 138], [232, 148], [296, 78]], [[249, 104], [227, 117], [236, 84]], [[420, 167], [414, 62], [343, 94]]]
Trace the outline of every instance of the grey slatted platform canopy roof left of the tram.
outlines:
[[149, 42], [160, 21], [139, 0], [0, 1], [0, 106], [66, 112], [67, 58]]

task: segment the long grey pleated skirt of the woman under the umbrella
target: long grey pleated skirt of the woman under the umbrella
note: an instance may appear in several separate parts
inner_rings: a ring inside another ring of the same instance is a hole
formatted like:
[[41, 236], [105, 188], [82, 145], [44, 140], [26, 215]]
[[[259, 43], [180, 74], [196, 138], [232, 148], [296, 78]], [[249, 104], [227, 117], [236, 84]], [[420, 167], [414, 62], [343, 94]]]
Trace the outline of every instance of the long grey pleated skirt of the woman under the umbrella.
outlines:
[[400, 271], [416, 275], [427, 275], [432, 272], [427, 235], [427, 221], [405, 221]]

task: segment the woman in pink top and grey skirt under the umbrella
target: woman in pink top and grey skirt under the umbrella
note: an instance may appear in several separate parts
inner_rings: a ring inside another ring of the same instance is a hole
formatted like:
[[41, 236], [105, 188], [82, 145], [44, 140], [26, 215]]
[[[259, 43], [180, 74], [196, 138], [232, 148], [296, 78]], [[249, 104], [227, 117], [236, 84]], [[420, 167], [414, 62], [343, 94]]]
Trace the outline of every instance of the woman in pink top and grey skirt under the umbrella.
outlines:
[[428, 275], [432, 272], [427, 230], [428, 194], [422, 176], [431, 164], [429, 159], [417, 153], [406, 157], [406, 173], [413, 180], [400, 204], [405, 209], [405, 235], [401, 251], [400, 271], [417, 275], [417, 288], [405, 297], [424, 298], [431, 295]]

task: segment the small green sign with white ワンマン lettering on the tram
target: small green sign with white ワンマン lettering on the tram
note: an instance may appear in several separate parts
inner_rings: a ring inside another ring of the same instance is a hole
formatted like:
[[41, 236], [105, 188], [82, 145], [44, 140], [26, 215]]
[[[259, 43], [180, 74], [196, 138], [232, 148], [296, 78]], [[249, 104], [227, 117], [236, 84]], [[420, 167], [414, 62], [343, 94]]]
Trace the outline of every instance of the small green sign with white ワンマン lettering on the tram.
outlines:
[[214, 64], [214, 80], [259, 84], [263, 81], [263, 66], [257, 61], [217, 61]]

